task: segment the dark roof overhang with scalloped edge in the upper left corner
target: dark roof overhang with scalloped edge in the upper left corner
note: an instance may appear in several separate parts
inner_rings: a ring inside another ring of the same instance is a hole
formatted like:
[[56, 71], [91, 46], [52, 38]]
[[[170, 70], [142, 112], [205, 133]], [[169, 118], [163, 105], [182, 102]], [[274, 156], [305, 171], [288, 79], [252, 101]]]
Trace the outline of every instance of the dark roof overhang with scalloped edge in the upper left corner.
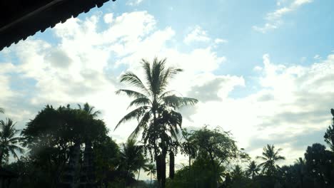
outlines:
[[[3, 0], [0, 1], [0, 51], [36, 32], [44, 32], [109, 0]], [[116, 0], [112, 0], [116, 1]]]

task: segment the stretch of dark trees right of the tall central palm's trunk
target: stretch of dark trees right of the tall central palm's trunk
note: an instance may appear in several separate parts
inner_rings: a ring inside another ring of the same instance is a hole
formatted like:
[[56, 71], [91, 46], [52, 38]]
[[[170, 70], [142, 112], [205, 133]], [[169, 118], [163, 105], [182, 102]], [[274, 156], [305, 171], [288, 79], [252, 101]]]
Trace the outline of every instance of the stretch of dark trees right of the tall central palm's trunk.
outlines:
[[283, 166], [277, 164], [285, 160], [280, 155], [282, 149], [276, 150], [274, 145], [263, 147], [262, 155], [255, 157], [259, 161], [257, 164], [240, 152], [242, 150], [235, 148], [228, 152], [228, 148], [233, 148], [234, 141], [226, 142], [228, 136], [223, 139], [226, 132], [207, 130], [206, 127], [191, 133], [184, 132], [186, 137], [181, 151], [188, 155], [189, 162], [176, 172], [173, 179], [168, 179], [167, 187], [334, 187], [333, 109], [332, 115], [333, 123], [324, 135], [329, 148], [314, 143], [307, 147], [304, 157], [296, 159], [294, 164]]

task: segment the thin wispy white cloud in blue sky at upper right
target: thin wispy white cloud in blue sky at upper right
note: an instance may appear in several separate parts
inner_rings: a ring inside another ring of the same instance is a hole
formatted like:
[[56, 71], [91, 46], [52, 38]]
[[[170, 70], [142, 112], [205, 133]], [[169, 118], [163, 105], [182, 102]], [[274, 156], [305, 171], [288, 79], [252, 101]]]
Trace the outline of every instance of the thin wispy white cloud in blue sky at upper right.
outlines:
[[287, 6], [280, 8], [280, 6], [285, 3], [283, 1], [278, 1], [276, 9], [273, 12], [270, 12], [265, 16], [265, 20], [267, 21], [264, 26], [253, 26], [252, 28], [255, 31], [259, 31], [261, 33], [266, 33], [267, 31], [273, 30], [275, 28], [279, 28], [283, 24], [283, 16], [290, 13], [291, 11], [296, 11], [300, 6], [304, 4], [311, 3], [311, 0], [293, 0]]

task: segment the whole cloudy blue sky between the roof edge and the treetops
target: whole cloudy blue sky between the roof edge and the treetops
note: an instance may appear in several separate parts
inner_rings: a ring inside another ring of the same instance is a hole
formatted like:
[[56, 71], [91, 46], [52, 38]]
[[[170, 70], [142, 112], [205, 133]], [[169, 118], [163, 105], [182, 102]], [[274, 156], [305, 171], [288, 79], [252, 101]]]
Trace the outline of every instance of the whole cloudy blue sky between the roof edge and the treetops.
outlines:
[[[0, 51], [0, 107], [22, 129], [46, 104], [101, 110], [121, 143], [136, 122], [117, 122], [130, 100], [115, 91], [141, 58], [183, 68], [171, 89], [197, 98], [183, 127], [231, 131], [253, 159], [266, 144], [291, 164], [325, 144], [334, 108], [334, 1], [109, 1]], [[180, 158], [182, 162], [182, 159]]]

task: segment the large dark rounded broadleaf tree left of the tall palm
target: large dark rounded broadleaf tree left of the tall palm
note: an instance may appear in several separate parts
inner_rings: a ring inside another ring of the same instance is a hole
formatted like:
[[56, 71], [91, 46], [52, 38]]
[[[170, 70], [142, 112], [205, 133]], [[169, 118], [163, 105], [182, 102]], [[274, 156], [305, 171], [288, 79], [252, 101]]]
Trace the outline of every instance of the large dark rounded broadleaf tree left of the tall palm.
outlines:
[[[80, 145], [87, 137], [85, 127], [90, 127], [88, 134], [92, 142], [105, 140], [107, 130], [102, 120], [95, 120], [83, 110], [72, 109], [69, 105], [56, 109], [46, 105], [26, 124], [21, 132], [24, 146], [29, 148], [29, 156], [34, 159], [36, 166], [47, 175], [47, 178], [36, 181], [49, 182], [48, 187], [54, 187], [59, 181], [66, 179], [63, 177], [65, 175], [71, 176], [71, 181], [76, 181], [79, 173], [89, 171], [86, 168], [85, 171], [76, 172]], [[75, 164], [75, 168], [69, 167], [70, 162]], [[86, 164], [83, 162], [83, 166], [88, 167]]]

